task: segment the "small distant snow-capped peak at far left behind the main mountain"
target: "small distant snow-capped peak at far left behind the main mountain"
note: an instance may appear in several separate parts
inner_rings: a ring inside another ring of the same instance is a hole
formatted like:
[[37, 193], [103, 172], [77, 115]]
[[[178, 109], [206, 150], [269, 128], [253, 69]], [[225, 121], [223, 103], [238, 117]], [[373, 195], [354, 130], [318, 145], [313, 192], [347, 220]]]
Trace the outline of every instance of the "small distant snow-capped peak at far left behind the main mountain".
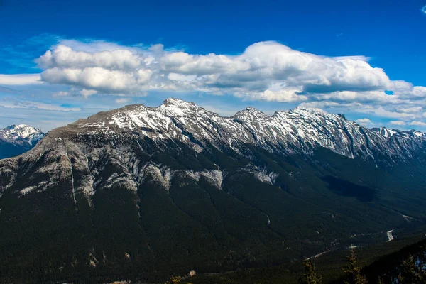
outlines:
[[0, 130], [0, 159], [25, 153], [44, 135], [40, 129], [26, 124], [12, 125]]

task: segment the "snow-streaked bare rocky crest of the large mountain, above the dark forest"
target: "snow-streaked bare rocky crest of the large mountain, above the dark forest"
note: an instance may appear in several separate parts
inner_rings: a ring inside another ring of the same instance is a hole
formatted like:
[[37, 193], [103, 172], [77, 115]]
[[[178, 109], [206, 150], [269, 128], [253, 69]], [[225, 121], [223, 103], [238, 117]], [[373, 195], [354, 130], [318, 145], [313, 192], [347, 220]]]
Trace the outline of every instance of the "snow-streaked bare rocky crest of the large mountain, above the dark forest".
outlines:
[[222, 117], [181, 99], [166, 99], [159, 107], [129, 105], [82, 119], [63, 130], [80, 134], [131, 131], [154, 141], [190, 143], [198, 151], [203, 143], [226, 145], [236, 151], [241, 144], [251, 144], [285, 154], [310, 153], [324, 147], [364, 160], [375, 160], [378, 155], [413, 158], [426, 141], [425, 134], [418, 131], [367, 129], [321, 109], [296, 107], [267, 115], [247, 107], [234, 116]]

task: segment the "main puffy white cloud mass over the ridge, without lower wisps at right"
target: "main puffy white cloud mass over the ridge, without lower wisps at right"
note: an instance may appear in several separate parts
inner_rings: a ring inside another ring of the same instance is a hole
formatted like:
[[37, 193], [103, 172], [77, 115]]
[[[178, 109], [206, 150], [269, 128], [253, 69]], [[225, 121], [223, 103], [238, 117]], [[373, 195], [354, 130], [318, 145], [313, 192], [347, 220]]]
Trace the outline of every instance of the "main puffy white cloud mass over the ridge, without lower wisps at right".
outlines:
[[42, 79], [53, 84], [113, 93], [150, 89], [232, 93], [280, 102], [305, 100], [297, 97], [301, 93], [359, 92], [393, 86], [382, 69], [366, 61], [365, 56], [328, 58], [302, 53], [276, 42], [255, 43], [244, 53], [231, 56], [167, 51], [162, 45], [138, 49], [63, 40], [37, 60], [44, 69]]

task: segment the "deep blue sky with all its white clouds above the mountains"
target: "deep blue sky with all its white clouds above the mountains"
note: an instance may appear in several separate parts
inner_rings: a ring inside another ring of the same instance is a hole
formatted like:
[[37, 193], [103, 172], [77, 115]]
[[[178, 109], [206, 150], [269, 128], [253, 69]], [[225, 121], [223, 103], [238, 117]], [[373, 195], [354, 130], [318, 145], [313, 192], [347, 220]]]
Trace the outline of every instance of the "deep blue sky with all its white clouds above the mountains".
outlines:
[[178, 97], [426, 131], [425, 46], [426, 0], [0, 0], [0, 128]]

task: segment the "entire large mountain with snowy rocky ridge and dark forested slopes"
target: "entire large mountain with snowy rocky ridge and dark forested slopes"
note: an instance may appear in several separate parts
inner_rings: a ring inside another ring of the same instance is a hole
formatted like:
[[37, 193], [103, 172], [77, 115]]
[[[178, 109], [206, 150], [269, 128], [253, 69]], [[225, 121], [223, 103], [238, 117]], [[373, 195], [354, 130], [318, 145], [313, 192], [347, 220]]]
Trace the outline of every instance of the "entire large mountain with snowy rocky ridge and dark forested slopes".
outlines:
[[398, 238], [426, 219], [425, 142], [302, 107], [100, 112], [0, 160], [1, 282], [163, 281]]

